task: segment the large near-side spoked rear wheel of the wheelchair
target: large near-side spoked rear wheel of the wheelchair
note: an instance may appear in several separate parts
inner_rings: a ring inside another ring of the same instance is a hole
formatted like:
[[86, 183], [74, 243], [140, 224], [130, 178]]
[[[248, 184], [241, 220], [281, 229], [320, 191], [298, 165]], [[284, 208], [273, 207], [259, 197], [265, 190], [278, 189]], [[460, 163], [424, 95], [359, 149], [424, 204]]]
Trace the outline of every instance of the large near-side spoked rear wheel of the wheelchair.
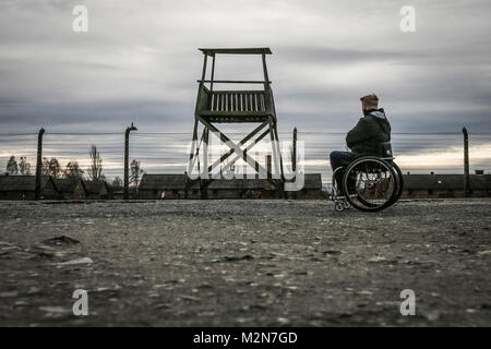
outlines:
[[402, 176], [387, 161], [364, 156], [352, 161], [345, 171], [343, 191], [355, 208], [364, 212], [384, 209], [397, 200]]

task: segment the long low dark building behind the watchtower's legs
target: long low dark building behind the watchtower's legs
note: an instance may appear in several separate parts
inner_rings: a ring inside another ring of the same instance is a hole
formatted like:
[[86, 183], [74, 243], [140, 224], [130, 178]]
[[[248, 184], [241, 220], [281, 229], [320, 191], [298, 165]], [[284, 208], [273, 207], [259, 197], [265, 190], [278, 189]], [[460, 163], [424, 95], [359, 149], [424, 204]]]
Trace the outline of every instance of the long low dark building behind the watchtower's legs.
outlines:
[[[209, 182], [191, 181], [185, 174], [143, 174], [140, 198], [276, 198], [278, 192], [266, 179], [216, 179]], [[297, 198], [322, 198], [320, 173], [304, 177], [304, 186]], [[290, 193], [287, 193], [292, 197]]]

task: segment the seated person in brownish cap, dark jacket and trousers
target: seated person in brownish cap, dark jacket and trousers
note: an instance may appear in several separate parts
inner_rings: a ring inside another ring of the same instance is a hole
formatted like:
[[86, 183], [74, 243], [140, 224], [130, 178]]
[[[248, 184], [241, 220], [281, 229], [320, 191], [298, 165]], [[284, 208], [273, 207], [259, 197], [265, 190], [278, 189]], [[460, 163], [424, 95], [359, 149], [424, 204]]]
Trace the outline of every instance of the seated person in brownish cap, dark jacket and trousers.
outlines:
[[[331, 153], [330, 159], [333, 171], [339, 167], [346, 168], [351, 161], [361, 156], [383, 156], [381, 154], [381, 144], [391, 141], [391, 124], [384, 109], [379, 108], [379, 98], [371, 94], [361, 97], [360, 100], [363, 118], [346, 135], [346, 144], [351, 152], [335, 151]], [[342, 188], [343, 176], [343, 169], [335, 173], [338, 191]]]

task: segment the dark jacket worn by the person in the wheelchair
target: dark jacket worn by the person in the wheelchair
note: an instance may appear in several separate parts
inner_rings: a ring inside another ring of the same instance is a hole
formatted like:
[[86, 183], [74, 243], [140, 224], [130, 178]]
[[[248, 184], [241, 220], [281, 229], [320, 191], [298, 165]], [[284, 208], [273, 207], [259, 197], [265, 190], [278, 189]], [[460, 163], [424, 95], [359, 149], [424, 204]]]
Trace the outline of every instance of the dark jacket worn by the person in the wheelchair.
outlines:
[[391, 124], [384, 109], [372, 109], [348, 132], [346, 144], [354, 153], [379, 155], [380, 143], [391, 141]]

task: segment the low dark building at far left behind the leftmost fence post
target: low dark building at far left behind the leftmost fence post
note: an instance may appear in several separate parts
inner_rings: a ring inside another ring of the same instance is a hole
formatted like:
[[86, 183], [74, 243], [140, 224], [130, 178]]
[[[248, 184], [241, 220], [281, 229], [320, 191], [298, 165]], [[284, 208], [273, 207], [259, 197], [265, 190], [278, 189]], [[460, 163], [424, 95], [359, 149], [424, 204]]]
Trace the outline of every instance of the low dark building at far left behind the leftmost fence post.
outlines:
[[[34, 200], [36, 176], [1, 176], [0, 198]], [[41, 177], [41, 198], [59, 198], [57, 186], [51, 177]]]

